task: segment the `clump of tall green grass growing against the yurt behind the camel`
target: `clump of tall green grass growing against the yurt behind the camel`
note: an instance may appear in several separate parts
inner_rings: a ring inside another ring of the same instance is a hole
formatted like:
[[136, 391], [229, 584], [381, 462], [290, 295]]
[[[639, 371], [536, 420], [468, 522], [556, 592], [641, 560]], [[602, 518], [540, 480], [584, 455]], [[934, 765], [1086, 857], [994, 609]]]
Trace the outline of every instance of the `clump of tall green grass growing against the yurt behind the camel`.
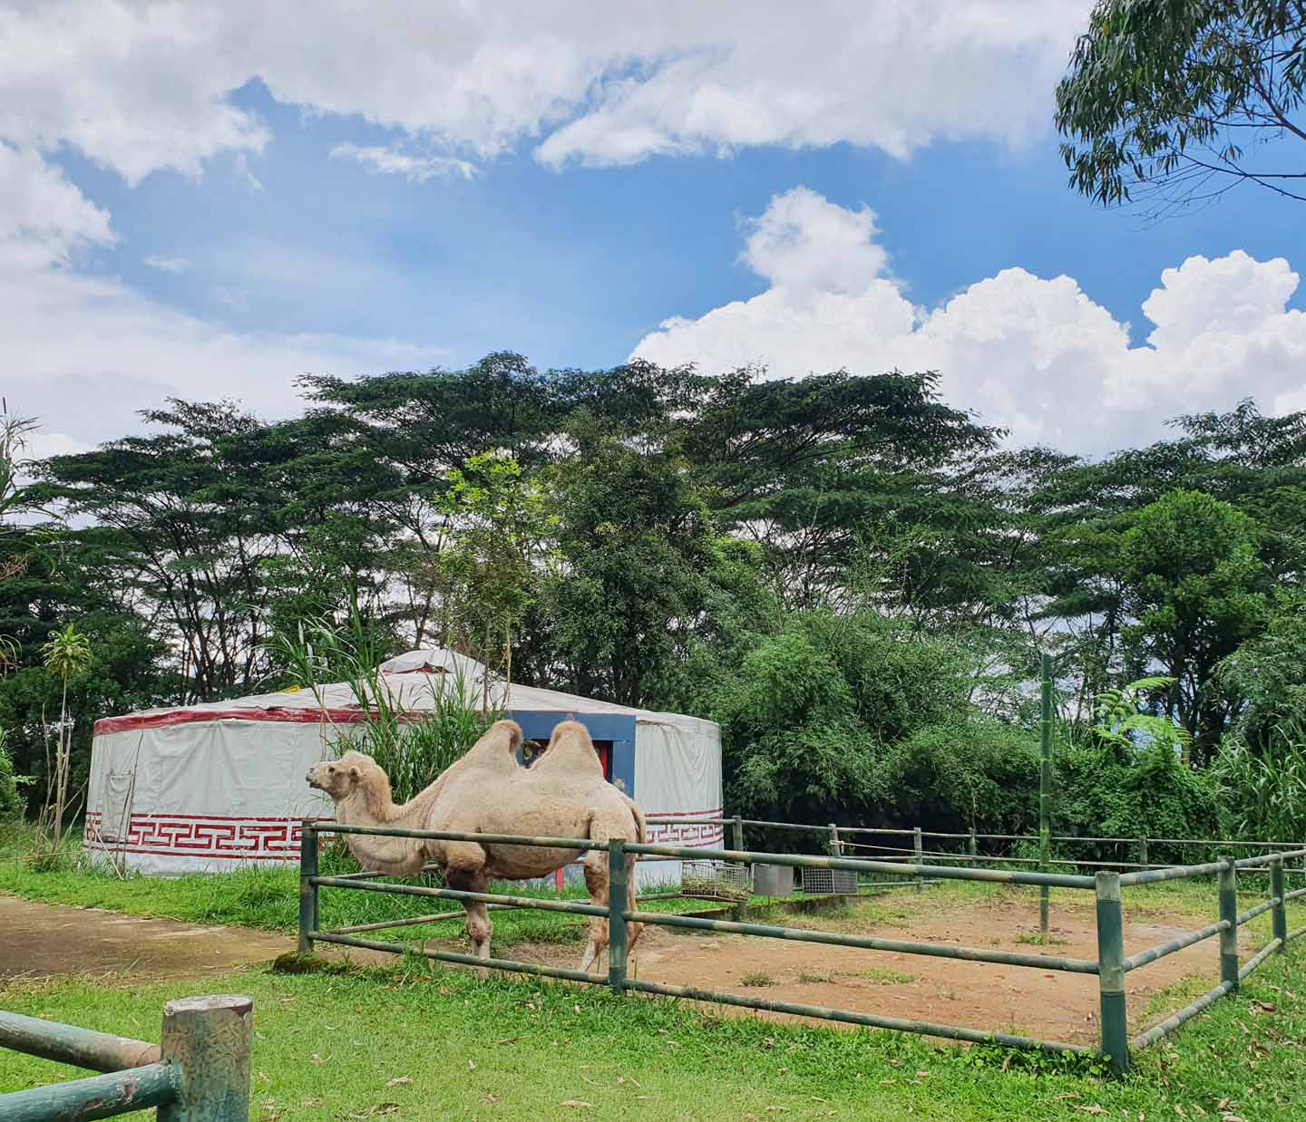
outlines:
[[381, 673], [383, 651], [357, 613], [345, 625], [311, 620], [294, 637], [279, 637], [279, 654], [303, 689], [323, 708], [320, 682], [343, 681], [366, 719], [336, 725], [337, 753], [364, 751], [390, 779], [397, 802], [406, 802], [466, 754], [504, 711], [488, 699], [477, 705], [474, 686], [461, 667], [426, 675], [421, 705], [405, 705], [402, 693]]

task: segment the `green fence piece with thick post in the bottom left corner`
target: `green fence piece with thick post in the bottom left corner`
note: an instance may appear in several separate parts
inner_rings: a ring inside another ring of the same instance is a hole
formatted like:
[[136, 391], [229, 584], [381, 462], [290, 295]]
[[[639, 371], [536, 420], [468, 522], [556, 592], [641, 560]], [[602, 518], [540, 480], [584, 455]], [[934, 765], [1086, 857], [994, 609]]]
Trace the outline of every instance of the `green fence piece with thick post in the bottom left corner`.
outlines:
[[248, 1122], [252, 1037], [248, 997], [170, 1001], [159, 1044], [0, 1011], [0, 1046], [104, 1072], [0, 1095], [0, 1118], [112, 1118], [157, 1106], [159, 1122]]

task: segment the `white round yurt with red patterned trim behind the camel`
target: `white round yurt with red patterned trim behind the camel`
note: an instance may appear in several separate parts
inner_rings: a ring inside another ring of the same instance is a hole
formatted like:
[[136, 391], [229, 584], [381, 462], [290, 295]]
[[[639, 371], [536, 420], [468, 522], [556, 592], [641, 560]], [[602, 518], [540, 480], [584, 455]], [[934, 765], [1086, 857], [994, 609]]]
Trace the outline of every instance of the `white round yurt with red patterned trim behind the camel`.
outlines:
[[[488, 695], [528, 741], [579, 720], [609, 780], [648, 817], [649, 840], [708, 848], [724, 842], [721, 731], [708, 720], [649, 712], [535, 686], [509, 685], [462, 655], [410, 651], [381, 665], [396, 707], [419, 714], [457, 682]], [[366, 718], [347, 684], [153, 708], [95, 723], [86, 796], [86, 852], [151, 874], [217, 872], [299, 860], [299, 823], [329, 818], [308, 787], [310, 765], [334, 754], [341, 725]], [[679, 882], [679, 862], [641, 862], [639, 882]]]

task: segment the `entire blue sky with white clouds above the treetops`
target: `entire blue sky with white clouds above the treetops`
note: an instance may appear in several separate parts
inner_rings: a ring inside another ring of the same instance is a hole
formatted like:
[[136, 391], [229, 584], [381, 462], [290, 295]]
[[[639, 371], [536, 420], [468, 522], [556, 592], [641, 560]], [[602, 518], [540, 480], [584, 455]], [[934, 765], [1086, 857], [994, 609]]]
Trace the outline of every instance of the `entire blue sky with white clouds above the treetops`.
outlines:
[[1246, 394], [1306, 404], [1302, 204], [1243, 188], [1149, 223], [1067, 188], [1051, 93], [1087, 3], [751, 5], [760, 30], [576, 4], [535, 33], [345, 5], [307, 37], [295, 7], [278, 38], [257, 5], [71, 3], [48, 57], [43, 8], [0, 16], [21, 106], [0, 117], [0, 382], [42, 450], [168, 393], [278, 414], [304, 369], [500, 348], [935, 367], [1013, 440], [1089, 454]]

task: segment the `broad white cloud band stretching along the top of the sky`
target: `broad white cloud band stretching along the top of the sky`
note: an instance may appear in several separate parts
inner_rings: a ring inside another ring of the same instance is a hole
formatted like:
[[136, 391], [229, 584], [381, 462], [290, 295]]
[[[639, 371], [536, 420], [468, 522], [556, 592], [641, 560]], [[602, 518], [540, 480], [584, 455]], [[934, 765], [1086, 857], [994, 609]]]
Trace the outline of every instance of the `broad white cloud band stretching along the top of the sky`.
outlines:
[[[283, 103], [396, 129], [432, 158], [525, 142], [554, 166], [622, 164], [840, 141], [905, 157], [940, 137], [1019, 142], [1046, 130], [1088, 8], [18, 3], [0, 10], [0, 137], [71, 145], [132, 183], [159, 168], [197, 175], [219, 153], [269, 142], [231, 100], [257, 78]], [[379, 170], [394, 155], [385, 151]]]

